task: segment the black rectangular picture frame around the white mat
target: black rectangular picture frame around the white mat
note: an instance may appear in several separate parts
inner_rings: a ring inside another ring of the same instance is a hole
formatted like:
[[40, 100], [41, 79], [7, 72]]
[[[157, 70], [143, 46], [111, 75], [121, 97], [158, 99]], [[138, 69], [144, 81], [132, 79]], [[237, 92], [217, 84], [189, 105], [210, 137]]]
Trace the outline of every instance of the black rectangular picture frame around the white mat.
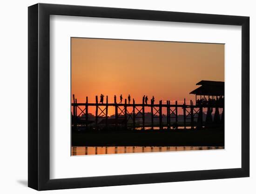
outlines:
[[[50, 177], [50, 15], [242, 26], [242, 167], [82, 178]], [[52, 190], [249, 176], [249, 17], [109, 7], [36, 4], [28, 7], [28, 187]]]

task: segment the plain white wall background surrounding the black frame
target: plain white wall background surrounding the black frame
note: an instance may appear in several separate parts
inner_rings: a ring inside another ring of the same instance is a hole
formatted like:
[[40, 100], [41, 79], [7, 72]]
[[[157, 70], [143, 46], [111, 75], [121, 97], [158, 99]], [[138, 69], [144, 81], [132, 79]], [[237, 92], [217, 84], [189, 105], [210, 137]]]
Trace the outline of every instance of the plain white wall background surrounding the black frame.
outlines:
[[[250, 17], [251, 115], [250, 178], [211, 181], [187, 181], [118, 187], [98, 187], [46, 191], [44, 193], [247, 193], [256, 192], [256, 70], [252, 67], [256, 39], [256, 12], [252, 0], [41, 0], [41, 3], [73, 4], [84, 6], [123, 7], [177, 12], [214, 13]], [[36, 193], [27, 187], [27, 7], [35, 0], [2, 1], [0, 9], [0, 191], [1, 193]], [[218, 160], [221, 160], [218, 159]]]

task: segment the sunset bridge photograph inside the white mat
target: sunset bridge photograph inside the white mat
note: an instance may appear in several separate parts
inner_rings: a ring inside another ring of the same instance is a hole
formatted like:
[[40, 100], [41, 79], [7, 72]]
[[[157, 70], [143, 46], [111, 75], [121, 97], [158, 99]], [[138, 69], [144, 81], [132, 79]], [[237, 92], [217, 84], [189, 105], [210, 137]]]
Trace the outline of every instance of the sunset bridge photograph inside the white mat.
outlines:
[[224, 149], [225, 44], [70, 41], [72, 156]]

